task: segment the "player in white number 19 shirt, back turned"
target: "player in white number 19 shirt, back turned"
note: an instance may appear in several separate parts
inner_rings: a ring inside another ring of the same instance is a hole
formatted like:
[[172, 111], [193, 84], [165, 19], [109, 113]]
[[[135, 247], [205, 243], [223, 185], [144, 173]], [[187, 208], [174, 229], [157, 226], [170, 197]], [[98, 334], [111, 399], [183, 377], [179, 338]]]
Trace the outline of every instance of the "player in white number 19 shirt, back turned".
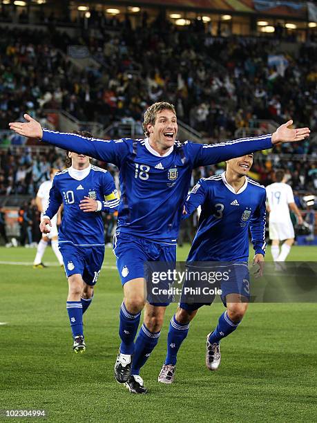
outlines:
[[[302, 216], [294, 202], [293, 190], [285, 183], [285, 172], [276, 171], [276, 182], [266, 187], [267, 212], [269, 212], [269, 238], [272, 241], [271, 254], [273, 261], [285, 261], [294, 243], [294, 227], [289, 216], [291, 209], [299, 225]], [[280, 249], [280, 241], [285, 242]]]

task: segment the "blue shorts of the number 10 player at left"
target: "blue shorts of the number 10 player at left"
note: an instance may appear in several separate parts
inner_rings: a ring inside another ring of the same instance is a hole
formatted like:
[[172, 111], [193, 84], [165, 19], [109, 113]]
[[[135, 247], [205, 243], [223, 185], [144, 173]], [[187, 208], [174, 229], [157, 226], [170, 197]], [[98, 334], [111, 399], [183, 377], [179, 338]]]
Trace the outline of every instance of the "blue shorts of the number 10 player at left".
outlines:
[[66, 276], [81, 274], [87, 285], [95, 285], [104, 263], [104, 245], [77, 247], [71, 243], [60, 243]]

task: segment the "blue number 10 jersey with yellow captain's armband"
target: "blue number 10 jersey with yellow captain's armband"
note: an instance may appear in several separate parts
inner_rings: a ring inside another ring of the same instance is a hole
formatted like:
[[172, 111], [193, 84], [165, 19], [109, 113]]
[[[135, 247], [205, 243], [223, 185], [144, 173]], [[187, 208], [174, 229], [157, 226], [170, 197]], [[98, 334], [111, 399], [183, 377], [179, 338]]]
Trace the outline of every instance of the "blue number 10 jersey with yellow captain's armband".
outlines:
[[85, 172], [82, 179], [77, 178], [79, 172], [72, 167], [56, 173], [44, 215], [52, 218], [63, 203], [59, 243], [81, 247], [104, 245], [102, 212], [83, 212], [79, 209], [79, 203], [86, 196], [100, 201], [102, 210], [114, 212], [119, 205], [115, 182], [108, 171], [96, 166], [90, 165], [80, 172]]

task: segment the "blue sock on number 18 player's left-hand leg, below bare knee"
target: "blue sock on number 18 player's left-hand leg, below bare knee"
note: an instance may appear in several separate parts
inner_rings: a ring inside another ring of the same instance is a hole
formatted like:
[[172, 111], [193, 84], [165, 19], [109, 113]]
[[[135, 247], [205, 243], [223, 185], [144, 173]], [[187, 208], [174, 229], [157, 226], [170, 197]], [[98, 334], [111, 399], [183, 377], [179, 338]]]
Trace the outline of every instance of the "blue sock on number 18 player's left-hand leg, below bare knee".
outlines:
[[120, 353], [133, 354], [135, 350], [134, 339], [140, 323], [141, 312], [133, 314], [126, 310], [124, 301], [120, 308], [119, 337], [121, 338]]

